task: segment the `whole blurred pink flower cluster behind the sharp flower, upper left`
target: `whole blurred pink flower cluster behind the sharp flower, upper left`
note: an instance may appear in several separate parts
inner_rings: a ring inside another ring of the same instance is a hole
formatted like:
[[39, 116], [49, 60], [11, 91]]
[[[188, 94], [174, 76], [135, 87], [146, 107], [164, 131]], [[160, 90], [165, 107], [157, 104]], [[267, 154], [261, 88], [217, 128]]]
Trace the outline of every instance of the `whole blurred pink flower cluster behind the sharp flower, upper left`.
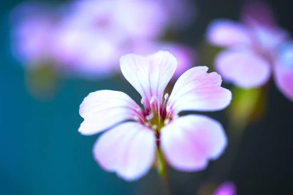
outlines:
[[193, 65], [195, 52], [163, 38], [192, 22], [193, 7], [189, 0], [26, 2], [10, 14], [11, 50], [28, 68], [50, 64], [58, 71], [101, 78], [115, 74], [126, 53], [164, 49], [178, 58], [180, 75]]

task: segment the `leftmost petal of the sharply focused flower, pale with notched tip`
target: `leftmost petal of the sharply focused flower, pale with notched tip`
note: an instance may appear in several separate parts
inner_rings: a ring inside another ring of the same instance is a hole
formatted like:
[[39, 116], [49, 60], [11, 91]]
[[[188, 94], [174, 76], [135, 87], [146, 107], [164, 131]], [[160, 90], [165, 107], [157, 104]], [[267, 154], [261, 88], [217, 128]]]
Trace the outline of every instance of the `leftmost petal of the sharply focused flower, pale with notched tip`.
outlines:
[[80, 105], [84, 118], [79, 132], [83, 135], [97, 134], [119, 122], [140, 116], [141, 108], [125, 93], [101, 90], [90, 93]]

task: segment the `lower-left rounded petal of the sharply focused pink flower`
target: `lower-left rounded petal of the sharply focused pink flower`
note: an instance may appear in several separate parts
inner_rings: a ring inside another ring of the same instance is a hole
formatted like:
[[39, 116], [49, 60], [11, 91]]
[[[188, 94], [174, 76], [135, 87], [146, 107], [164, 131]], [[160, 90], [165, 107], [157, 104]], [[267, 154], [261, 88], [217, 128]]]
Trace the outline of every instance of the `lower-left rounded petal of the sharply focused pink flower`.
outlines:
[[100, 166], [127, 181], [148, 172], [156, 151], [154, 133], [137, 122], [126, 122], [96, 141], [93, 155]]

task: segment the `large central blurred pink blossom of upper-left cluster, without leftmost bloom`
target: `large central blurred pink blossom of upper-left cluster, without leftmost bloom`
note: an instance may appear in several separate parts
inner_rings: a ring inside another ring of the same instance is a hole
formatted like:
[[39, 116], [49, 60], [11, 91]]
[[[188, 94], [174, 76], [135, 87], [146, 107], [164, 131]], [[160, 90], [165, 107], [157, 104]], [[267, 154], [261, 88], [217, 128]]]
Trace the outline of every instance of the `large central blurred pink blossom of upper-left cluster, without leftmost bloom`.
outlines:
[[79, 0], [69, 13], [56, 30], [56, 55], [87, 76], [115, 73], [129, 42], [154, 39], [167, 27], [155, 1]]

